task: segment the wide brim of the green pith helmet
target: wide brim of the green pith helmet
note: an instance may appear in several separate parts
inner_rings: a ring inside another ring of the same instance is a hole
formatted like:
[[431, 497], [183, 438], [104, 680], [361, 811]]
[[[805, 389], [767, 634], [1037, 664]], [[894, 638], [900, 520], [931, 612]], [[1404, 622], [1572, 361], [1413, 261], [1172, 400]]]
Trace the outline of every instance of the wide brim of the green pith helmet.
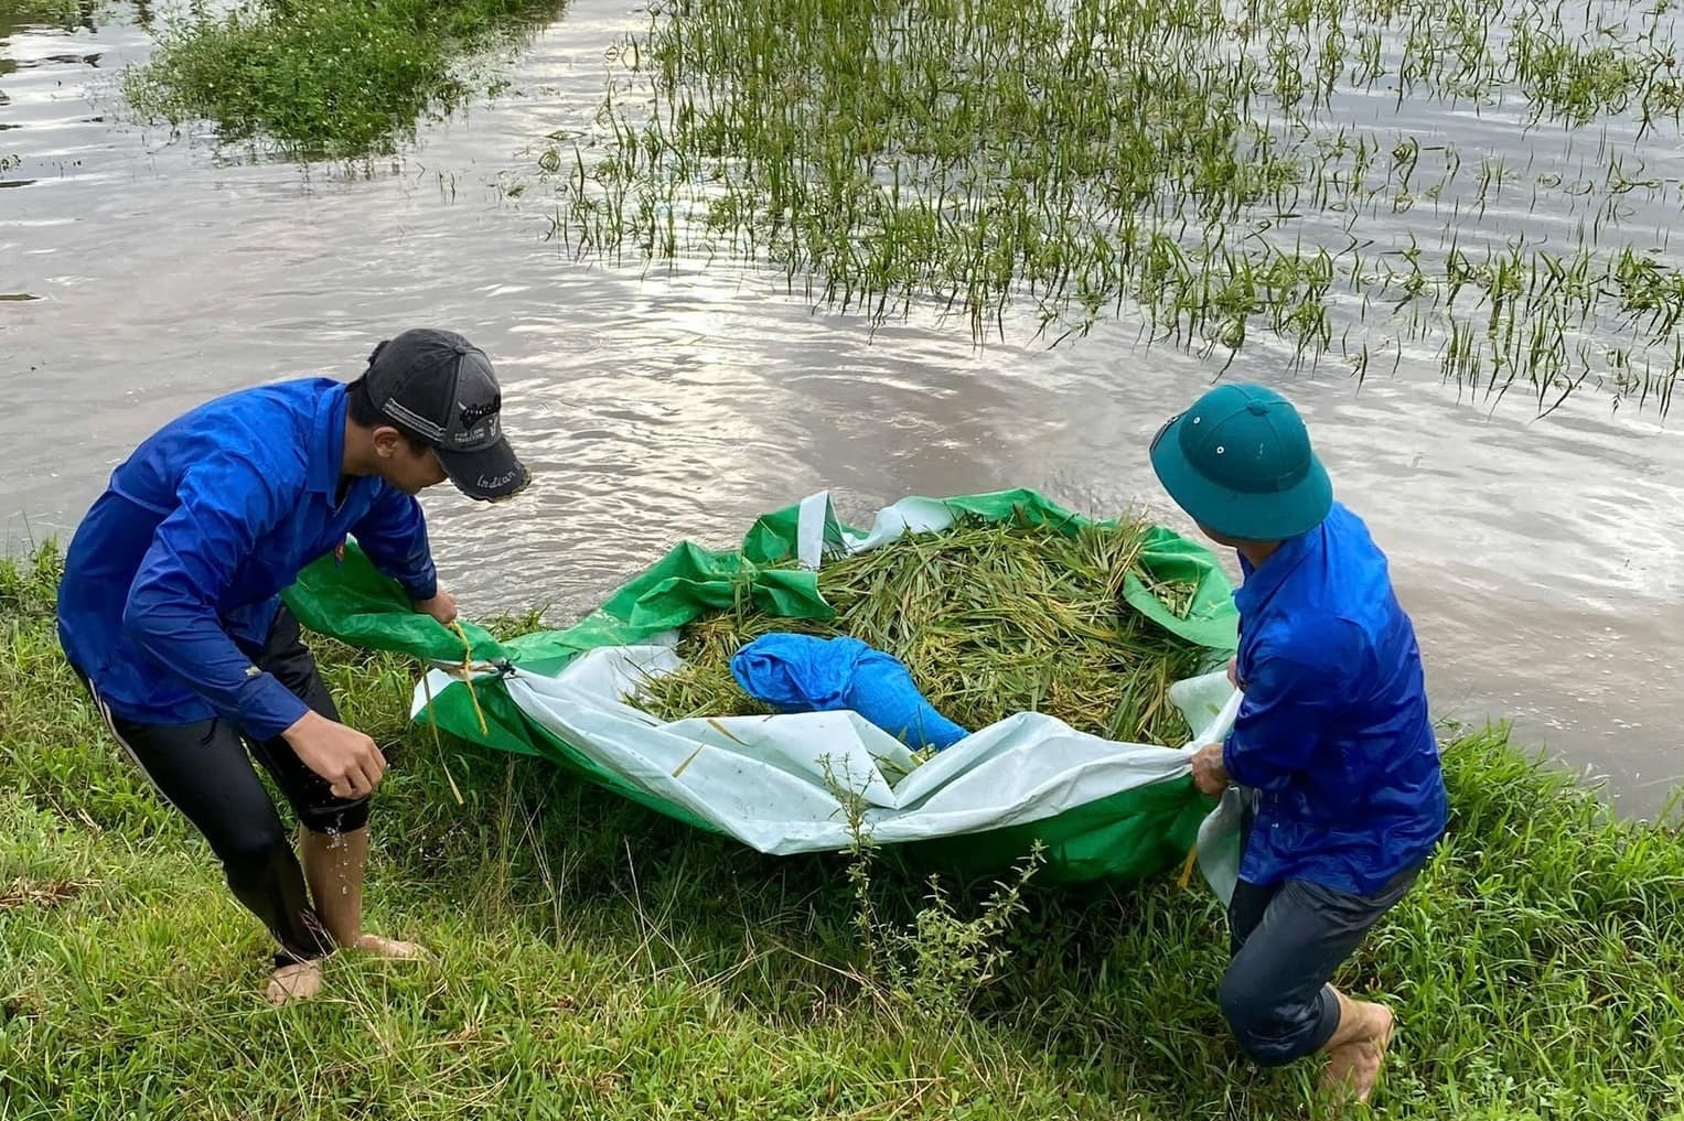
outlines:
[[1234, 540], [1287, 540], [1307, 534], [1334, 505], [1334, 485], [1314, 454], [1310, 471], [1292, 490], [1246, 493], [1204, 478], [1180, 449], [1182, 417], [1175, 417], [1152, 446], [1152, 470], [1187, 517]]

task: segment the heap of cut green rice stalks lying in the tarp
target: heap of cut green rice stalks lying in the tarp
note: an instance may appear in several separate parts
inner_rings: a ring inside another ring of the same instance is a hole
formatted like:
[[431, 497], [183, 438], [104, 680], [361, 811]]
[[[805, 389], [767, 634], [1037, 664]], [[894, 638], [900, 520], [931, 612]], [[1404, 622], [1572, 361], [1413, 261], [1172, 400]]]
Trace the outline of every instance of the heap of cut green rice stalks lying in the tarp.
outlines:
[[633, 699], [663, 719], [771, 712], [731, 677], [736, 651], [771, 631], [850, 635], [911, 672], [930, 704], [970, 731], [1014, 712], [1046, 712], [1108, 739], [1180, 746], [1191, 734], [1169, 687], [1206, 651], [1123, 601], [1140, 577], [1175, 614], [1192, 586], [1155, 584], [1138, 567], [1145, 525], [960, 523], [827, 562], [818, 589], [834, 619], [785, 619], [744, 606], [684, 628], [685, 668]]

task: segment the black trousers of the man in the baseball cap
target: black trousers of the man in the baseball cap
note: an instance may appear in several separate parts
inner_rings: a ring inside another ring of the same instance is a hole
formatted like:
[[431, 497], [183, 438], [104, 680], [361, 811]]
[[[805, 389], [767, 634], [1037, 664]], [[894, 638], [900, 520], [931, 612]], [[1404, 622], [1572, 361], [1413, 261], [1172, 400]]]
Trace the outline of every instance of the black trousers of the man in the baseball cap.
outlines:
[[[317, 673], [298, 621], [286, 608], [281, 608], [263, 646], [241, 643], [241, 650], [312, 709], [338, 720], [333, 697]], [[83, 683], [88, 683], [86, 677]], [[327, 779], [306, 768], [280, 736], [251, 739], [222, 719], [138, 724], [115, 715], [93, 685], [89, 692], [111, 734], [158, 793], [210, 843], [234, 897], [274, 934], [281, 944], [276, 964], [332, 953], [333, 939], [310, 906], [298, 857], [251, 761], [263, 764], [298, 821], [315, 833], [360, 830], [369, 823], [369, 800], [335, 798]]]

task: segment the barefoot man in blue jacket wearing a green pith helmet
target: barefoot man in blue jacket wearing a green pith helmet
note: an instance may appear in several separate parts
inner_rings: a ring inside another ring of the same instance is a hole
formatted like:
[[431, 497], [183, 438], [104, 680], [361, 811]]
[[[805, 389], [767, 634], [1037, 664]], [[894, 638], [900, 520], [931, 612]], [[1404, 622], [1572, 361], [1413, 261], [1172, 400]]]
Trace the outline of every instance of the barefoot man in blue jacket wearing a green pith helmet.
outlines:
[[1393, 1015], [1329, 981], [1447, 823], [1415, 628], [1280, 394], [1209, 390], [1159, 431], [1152, 466], [1244, 572], [1231, 667], [1244, 702], [1192, 757], [1199, 789], [1233, 783], [1250, 800], [1223, 1013], [1258, 1064], [1325, 1052], [1324, 1087], [1367, 1101]]

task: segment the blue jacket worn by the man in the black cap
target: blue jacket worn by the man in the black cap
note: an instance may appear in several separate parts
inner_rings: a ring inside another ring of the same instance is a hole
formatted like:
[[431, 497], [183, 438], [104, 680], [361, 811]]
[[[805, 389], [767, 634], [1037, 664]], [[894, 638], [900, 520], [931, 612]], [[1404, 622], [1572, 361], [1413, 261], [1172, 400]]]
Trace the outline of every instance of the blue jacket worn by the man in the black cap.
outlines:
[[340, 478], [345, 407], [332, 379], [246, 389], [113, 471], [66, 552], [59, 641], [116, 715], [286, 731], [305, 702], [234, 640], [261, 646], [281, 589], [347, 534], [413, 598], [436, 594], [421, 505], [381, 478]]

